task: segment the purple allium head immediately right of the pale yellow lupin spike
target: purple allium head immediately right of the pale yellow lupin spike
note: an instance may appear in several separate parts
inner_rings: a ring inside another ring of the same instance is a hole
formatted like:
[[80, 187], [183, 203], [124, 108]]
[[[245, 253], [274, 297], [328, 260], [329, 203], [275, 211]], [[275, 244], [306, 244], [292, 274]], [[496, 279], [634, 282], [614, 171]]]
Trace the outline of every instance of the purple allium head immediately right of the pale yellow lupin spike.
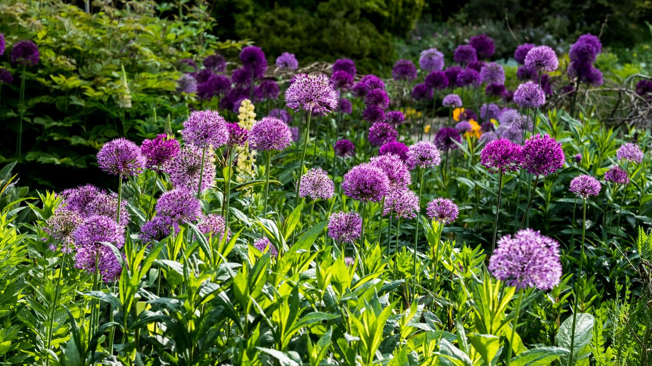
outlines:
[[263, 117], [251, 128], [248, 141], [254, 150], [283, 150], [292, 144], [292, 132], [286, 122]]

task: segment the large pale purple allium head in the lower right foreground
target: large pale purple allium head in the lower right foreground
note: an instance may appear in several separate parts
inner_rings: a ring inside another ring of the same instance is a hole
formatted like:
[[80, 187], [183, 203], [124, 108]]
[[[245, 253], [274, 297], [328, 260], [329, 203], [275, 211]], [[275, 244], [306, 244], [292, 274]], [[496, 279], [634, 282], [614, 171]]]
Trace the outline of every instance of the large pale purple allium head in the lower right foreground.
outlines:
[[516, 289], [550, 290], [559, 284], [559, 243], [539, 231], [523, 229], [505, 235], [489, 259], [489, 272]]

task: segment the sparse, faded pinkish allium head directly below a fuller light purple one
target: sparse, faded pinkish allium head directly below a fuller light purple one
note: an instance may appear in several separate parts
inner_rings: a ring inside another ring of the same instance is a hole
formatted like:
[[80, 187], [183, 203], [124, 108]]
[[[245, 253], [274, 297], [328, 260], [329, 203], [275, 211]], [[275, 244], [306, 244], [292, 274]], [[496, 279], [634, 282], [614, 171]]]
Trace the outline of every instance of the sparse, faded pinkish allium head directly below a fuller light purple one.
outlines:
[[[192, 145], [181, 149], [179, 155], [170, 160], [164, 171], [170, 175], [170, 182], [176, 188], [186, 188], [196, 192], [200, 184], [201, 162], [203, 152]], [[215, 164], [211, 162], [213, 152], [207, 150], [203, 157], [203, 175], [201, 176], [201, 191], [211, 187], [215, 180]]]

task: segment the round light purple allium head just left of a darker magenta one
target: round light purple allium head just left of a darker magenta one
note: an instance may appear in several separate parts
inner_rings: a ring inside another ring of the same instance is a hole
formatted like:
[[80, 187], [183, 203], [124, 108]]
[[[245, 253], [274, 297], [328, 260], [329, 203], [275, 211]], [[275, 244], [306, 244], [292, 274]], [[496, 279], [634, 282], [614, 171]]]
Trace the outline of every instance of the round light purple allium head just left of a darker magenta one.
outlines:
[[105, 143], [97, 153], [100, 169], [121, 178], [140, 175], [146, 162], [138, 145], [122, 137]]

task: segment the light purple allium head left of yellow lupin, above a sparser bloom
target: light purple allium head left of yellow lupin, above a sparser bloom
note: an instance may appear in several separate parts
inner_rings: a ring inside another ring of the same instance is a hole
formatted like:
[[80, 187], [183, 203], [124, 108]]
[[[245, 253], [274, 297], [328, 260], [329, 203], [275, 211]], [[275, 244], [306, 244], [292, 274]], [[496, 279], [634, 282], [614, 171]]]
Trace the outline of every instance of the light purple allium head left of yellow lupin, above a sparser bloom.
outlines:
[[181, 131], [183, 140], [198, 148], [219, 148], [226, 144], [229, 132], [226, 120], [218, 111], [192, 111]]

